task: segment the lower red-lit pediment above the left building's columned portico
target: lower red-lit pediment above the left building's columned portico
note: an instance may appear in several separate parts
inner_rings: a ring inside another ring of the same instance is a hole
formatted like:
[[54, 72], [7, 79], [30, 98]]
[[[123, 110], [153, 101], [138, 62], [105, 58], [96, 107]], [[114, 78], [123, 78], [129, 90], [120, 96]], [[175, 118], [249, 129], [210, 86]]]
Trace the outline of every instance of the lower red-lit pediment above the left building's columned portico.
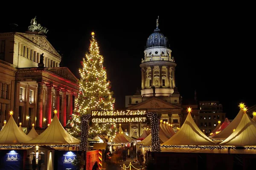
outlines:
[[68, 79], [71, 82], [77, 82], [77, 78], [67, 67], [45, 68], [45, 70], [57, 74], [58, 76], [63, 77], [64, 79]]

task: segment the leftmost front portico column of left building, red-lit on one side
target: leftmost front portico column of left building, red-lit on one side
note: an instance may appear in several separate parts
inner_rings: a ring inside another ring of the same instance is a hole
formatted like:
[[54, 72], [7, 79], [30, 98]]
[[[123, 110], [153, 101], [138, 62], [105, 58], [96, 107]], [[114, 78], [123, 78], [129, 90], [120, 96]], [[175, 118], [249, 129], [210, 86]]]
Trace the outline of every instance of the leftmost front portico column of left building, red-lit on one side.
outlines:
[[43, 82], [38, 82], [36, 126], [42, 128], [43, 122]]

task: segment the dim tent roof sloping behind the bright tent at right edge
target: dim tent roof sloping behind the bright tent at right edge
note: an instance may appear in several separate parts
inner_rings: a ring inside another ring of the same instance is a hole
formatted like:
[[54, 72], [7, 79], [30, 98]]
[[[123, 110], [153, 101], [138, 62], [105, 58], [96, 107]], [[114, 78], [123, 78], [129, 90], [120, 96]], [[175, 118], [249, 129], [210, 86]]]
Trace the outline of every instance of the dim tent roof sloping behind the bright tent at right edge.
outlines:
[[233, 129], [236, 129], [236, 127], [239, 125], [239, 122], [241, 122], [243, 115], [243, 108], [241, 108], [235, 119], [233, 119], [233, 121], [224, 130], [222, 130], [220, 133], [216, 134], [212, 138], [226, 139], [228, 136], [231, 135], [231, 133], [233, 133]]

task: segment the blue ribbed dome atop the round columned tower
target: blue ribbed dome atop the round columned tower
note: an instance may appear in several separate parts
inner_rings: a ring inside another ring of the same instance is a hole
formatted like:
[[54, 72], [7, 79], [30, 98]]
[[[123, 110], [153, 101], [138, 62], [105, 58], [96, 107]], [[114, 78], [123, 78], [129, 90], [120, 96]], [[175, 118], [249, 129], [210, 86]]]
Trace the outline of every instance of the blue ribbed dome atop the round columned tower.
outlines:
[[146, 48], [149, 47], [167, 47], [168, 38], [164, 37], [163, 33], [160, 32], [160, 29], [156, 28], [154, 32], [148, 37]]

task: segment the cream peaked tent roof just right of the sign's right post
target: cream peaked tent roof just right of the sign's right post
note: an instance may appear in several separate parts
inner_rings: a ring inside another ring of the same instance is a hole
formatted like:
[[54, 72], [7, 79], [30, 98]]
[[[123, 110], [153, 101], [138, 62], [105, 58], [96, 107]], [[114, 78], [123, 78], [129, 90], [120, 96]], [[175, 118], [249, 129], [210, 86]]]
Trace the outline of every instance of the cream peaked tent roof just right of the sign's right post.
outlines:
[[185, 122], [174, 136], [162, 145], [215, 145], [195, 124], [188, 113]]

